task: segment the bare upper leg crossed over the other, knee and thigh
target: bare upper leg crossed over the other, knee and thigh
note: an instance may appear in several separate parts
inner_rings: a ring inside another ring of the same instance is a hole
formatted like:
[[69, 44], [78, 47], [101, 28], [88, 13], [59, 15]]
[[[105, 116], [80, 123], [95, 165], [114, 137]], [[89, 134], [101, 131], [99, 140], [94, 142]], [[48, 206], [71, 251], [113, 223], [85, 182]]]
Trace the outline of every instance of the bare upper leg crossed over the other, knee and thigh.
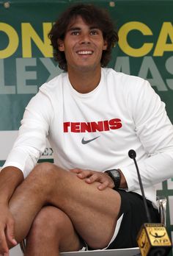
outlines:
[[87, 184], [51, 163], [37, 165], [10, 200], [18, 241], [26, 237], [35, 216], [48, 203], [70, 217], [92, 248], [103, 248], [110, 241], [119, 213], [119, 193], [111, 188], [99, 191], [97, 182]]

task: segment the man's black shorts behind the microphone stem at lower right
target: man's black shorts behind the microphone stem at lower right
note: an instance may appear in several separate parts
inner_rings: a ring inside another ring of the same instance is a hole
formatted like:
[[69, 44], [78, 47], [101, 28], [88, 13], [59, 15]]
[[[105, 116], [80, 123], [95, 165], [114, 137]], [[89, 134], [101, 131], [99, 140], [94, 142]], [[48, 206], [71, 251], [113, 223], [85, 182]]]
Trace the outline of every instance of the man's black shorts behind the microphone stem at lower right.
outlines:
[[[121, 249], [138, 247], [136, 237], [141, 225], [147, 223], [147, 214], [144, 208], [142, 196], [134, 192], [117, 191], [121, 196], [121, 207], [119, 216], [123, 218], [114, 241], [106, 249]], [[160, 223], [161, 218], [158, 210], [152, 206], [152, 202], [147, 200], [148, 209], [152, 223]]]

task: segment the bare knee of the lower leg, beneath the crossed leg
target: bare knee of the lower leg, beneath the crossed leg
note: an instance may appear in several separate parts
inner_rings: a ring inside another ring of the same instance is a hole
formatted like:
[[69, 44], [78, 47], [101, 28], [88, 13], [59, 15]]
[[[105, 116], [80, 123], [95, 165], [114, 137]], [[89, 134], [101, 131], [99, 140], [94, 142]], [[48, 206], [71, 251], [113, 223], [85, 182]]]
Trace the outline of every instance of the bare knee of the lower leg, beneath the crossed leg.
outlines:
[[70, 218], [56, 207], [43, 207], [37, 214], [26, 242], [25, 256], [58, 256], [78, 251], [82, 245]]

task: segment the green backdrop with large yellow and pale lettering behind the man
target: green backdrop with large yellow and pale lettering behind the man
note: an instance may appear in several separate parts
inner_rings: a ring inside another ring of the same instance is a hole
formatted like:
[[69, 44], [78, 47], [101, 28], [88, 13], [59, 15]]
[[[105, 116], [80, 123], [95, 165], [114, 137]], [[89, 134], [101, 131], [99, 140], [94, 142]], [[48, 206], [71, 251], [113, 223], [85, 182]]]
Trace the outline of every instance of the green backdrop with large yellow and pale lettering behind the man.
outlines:
[[[0, 165], [12, 146], [23, 110], [43, 82], [61, 71], [47, 34], [62, 10], [76, 1], [0, 1]], [[109, 67], [148, 79], [173, 121], [173, 1], [83, 1], [105, 7], [117, 24], [119, 44]], [[13, 136], [14, 135], [14, 136]], [[51, 159], [47, 148], [43, 159]], [[173, 172], [172, 172], [173, 173]], [[173, 176], [173, 175], [172, 175]], [[168, 199], [173, 236], [173, 179], [158, 187]], [[171, 214], [172, 213], [172, 214]]]

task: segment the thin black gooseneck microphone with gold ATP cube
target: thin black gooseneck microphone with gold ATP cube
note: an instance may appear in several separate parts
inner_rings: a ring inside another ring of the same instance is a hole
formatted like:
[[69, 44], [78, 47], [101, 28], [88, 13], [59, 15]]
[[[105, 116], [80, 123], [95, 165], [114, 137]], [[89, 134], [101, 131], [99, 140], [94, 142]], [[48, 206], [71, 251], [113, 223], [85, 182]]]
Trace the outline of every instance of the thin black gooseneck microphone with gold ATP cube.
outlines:
[[161, 223], [151, 223], [150, 212], [147, 206], [147, 200], [144, 195], [144, 188], [141, 182], [139, 167], [136, 162], [136, 152], [130, 149], [128, 156], [133, 159], [138, 174], [141, 195], [144, 201], [144, 208], [147, 214], [148, 223], [141, 226], [141, 230], [137, 235], [137, 243], [141, 251], [141, 256], [166, 256], [172, 248], [172, 243], [166, 231], [166, 227]]

